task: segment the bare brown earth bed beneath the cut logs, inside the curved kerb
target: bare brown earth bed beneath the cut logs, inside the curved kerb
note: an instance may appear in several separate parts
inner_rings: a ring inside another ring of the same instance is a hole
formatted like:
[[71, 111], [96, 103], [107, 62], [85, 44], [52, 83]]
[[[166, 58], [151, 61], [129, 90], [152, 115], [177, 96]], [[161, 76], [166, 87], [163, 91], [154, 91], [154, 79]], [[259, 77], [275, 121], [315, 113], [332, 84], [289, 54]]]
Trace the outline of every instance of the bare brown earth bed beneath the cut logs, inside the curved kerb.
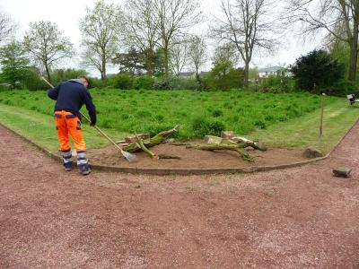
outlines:
[[[196, 141], [198, 143], [198, 141]], [[267, 152], [248, 150], [250, 155], [258, 156], [255, 161], [243, 161], [237, 152], [216, 151], [207, 152], [196, 149], [187, 149], [186, 146], [176, 146], [171, 143], [162, 143], [151, 148], [156, 154], [170, 154], [179, 156], [178, 159], [152, 160], [144, 152], [136, 152], [136, 161], [128, 162], [119, 150], [109, 147], [89, 151], [92, 163], [104, 166], [119, 166], [130, 168], [158, 168], [158, 169], [227, 169], [245, 168], [251, 166], [273, 166], [298, 161], [308, 161], [302, 157], [299, 150], [268, 149]]]

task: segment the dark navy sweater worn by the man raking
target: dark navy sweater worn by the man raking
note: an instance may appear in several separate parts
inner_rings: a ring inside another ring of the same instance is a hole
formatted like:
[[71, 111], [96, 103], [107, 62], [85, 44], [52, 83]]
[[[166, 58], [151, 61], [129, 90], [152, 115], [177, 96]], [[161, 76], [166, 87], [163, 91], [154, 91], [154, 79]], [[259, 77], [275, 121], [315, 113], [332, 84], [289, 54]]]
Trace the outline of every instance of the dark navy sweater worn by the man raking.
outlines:
[[85, 104], [92, 123], [96, 123], [96, 108], [92, 103], [90, 92], [82, 82], [69, 80], [59, 83], [55, 88], [48, 90], [48, 97], [57, 100], [55, 111], [66, 110], [81, 118], [80, 109]]

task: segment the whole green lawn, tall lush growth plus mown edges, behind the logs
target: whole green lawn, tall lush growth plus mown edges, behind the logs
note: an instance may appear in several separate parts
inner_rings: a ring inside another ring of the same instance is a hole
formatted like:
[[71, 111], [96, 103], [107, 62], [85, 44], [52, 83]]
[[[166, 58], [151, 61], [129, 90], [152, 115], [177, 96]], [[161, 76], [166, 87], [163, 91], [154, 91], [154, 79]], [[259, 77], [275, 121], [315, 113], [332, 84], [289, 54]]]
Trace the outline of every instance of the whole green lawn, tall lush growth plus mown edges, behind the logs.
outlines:
[[[267, 146], [317, 146], [328, 152], [353, 125], [358, 108], [328, 97], [324, 135], [319, 137], [320, 96], [250, 91], [91, 91], [98, 124], [113, 139], [128, 133], [155, 134], [180, 125], [177, 138], [218, 134], [221, 128], [259, 139]], [[49, 150], [57, 150], [54, 101], [46, 91], [0, 91], [0, 122]], [[83, 112], [86, 113], [85, 109]], [[88, 148], [108, 142], [83, 123]]]

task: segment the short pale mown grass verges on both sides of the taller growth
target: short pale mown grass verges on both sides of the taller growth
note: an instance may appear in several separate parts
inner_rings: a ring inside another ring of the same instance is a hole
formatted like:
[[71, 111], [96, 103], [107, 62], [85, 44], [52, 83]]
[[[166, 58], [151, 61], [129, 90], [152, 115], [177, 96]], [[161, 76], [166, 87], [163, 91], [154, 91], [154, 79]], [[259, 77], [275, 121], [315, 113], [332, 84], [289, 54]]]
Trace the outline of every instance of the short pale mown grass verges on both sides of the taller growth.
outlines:
[[[320, 138], [320, 109], [285, 122], [276, 123], [266, 129], [257, 129], [246, 134], [268, 147], [302, 149], [307, 145], [328, 153], [353, 126], [359, 107], [349, 106], [345, 99], [331, 101], [325, 108], [323, 135]], [[0, 104], [0, 122], [39, 143], [50, 151], [57, 151], [58, 142], [53, 117], [38, 111]], [[102, 128], [114, 140], [127, 133], [113, 128]], [[83, 123], [83, 136], [88, 149], [101, 148], [109, 142], [94, 128]]]

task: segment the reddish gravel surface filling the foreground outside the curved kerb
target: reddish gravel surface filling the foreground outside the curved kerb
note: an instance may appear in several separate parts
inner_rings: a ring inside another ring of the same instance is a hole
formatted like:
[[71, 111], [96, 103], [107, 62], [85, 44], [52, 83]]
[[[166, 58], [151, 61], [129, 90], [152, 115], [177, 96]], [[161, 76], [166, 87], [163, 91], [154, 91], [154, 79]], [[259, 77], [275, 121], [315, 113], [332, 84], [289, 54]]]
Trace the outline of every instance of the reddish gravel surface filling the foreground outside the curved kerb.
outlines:
[[0, 268], [359, 268], [358, 136], [301, 168], [83, 177], [0, 127]]

